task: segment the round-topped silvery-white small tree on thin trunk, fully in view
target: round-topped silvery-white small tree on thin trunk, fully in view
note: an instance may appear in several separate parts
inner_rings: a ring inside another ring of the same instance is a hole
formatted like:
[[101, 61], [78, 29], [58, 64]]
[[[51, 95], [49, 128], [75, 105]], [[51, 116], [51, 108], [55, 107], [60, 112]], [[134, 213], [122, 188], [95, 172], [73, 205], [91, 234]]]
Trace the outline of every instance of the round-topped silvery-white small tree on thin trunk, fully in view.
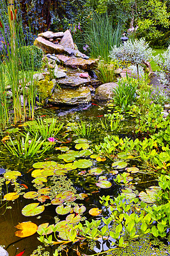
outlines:
[[139, 65], [142, 65], [152, 58], [153, 51], [148, 43], [143, 39], [128, 40], [124, 45], [117, 47], [114, 45], [109, 54], [113, 60], [121, 60], [137, 67], [137, 76], [139, 78]]

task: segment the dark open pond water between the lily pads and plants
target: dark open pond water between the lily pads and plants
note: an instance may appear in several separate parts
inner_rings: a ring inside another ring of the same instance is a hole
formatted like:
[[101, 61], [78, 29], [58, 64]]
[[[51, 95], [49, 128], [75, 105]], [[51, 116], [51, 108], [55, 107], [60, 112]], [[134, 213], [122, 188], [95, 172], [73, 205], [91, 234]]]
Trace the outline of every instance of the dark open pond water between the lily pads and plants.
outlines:
[[[60, 122], [64, 122], [62, 131], [59, 132], [57, 136], [55, 136], [56, 144], [54, 147], [69, 147], [70, 150], [77, 150], [75, 148], [76, 143], [74, 141], [79, 137], [72, 131], [72, 127], [75, 123], [80, 122], [80, 120], [86, 122], [87, 127], [88, 125], [91, 125], [91, 134], [87, 142], [89, 143], [89, 148], [87, 150], [90, 149], [91, 152], [93, 151], [93, 154], [95, 154], [95, 145], [98, 145], [100, 141], [103, 142], [104, 137], [106, 135], [119, 133], [119, 136], [121, 136], [122, 138], [125, 138], [125, 136], [134, 138], [134, 135], [132, 133], [132, 131], [134, 130], [133, 117], [123, 117], [123, 120], [121, 122], [124, 124], [124, 127], [120, 130], [120, 132], [111, 132], [109, 130], [105, 131], [101, 125], [100, 119], [102, 119], [104, 122], [104, 114], [111, 113], [112, 109], [105, 108], [105, 104], [99, 105], [92, 104], [89, 106], [72, 109], [59, 109], [58, 107], [51, 109], [40, 109], [36, 111], [36, 115], [42, 116], [42, 118], [54, 117], [57, 118]], [[13, 138], [15, 136], [20, 136], [21, 138], [21, 132], [24, 132], [24, 128], [19, 125], [19, 131], [16, 134], [10, 134], [10, 136], [12, 136]], [[6, 134], [2, 134], [2, 138], [5, 135]], [[82, 148], [80, 150], [82, 150]], [[47, 151], [40, 159], [34, 158], [23, 160], [19, 159], [18, 157], [12, 156], [12, 154], [10, 154], [8, 150], [4, 147], [3, 143], [1, 143], [0, 167], [5, 170], [19, 171], [20, 173], [22, 173], [22, 176], [19, 176], [16, 179], [17, 183], [19, 184], [19, 187], [23, 189], [21, 190], [21, 192], [23, 191], [24, 193], [26, 193], [28, 191], [37, 191], [37, 187], [33, 186], [34, 178], [31, 176], [31, 173], [33, 172], [33, 170], [35, 170], [35, 168], [33, 168], [33, 164], [36, 162], [43, 161], [55, 161], [59, 164], [72, 163], [69, 160], [64, 162], [63, 159], [58, 158], [58, 156], [62, 154], [65, 154], [65, 152], [61, 152], [61, 150], [56, 150], [52, 148], [51, 150]], [[102, 218], [102, 214], [98, 216], [91, 216], [88, 213], [89, 209], [91, 208], [104, 209], [104, 206], [102, 206], [99, 202], [99, 196], [117, 196], [119, 193], [121, 193], [121, 189], [125, 188], [123, 184], [119, 185], [116, 184], [116, 182], [114, 181], [116, 175], [114, 175], [114, 173], [111, 173], [111, 171], [114, 170], [114, 168], [112, 168], [111, 166], [114, 160], [109, 159], [109, 157], [106, 157], [105, 161], [97, 161], [97, 158], [90, 157], [91, 154], [88, 154], [88, 156], [83, 155], [82, 159], [91, 161], [93, 163], [92, 166], [88, 168], [76, 168], [74, 170], [69, 170], [69, 172], [65, 176], [66, 178], [63, 178], [63, 181], [60, 180], [61, 183], [63, 182], [64, 184], [66, 184], [65, 179], [72, 180], [72, 186], [73, 188], [76, 189], [76, 194], [86, 194], [84, 200], [80, 200], [78, 196], [77, 200], [75, 200], [74, 203], [79, 205], [83, 204], [86, 207], [86, 211], [82, 214], [82, 218], [86, 217], [88, 221], [91, 221], [92, 219], [100, 220]], [[131, 166], [136, 166], [140, 170], [140, 172], [131, 175], [132, 181], [128, 183], [128, 186], [133, 187], [134, 191], [135, 189], [137, 189], [137, 191], [140, 192], [143, 191], [145, 188], [149, 188], [151, 185], [157, 184], [155, 176], [143, 172], [144, 167], [140, 162], [137, 162], [135, 159], [128, 159], [128, 167]], [[88, 170], [90, 170], [91, 168], [101, 168], [102, 176], [107, 177], [107, 180], [111, 182], [111, 187], [98, 187], [96, 183], [98, 182], [97, 180], [101, 175], [88, 175]], [[121, 171], [122, 170], [120, 170], [120, 173]], [[3, 177], [3, 174], [1, 174], [0, 176]], [[48, 182], [45, 182], [44, 184], [46, 184], [46, 186], [48, 187], [51, 186], [52, 188], [54, 184], [51, 183], [49, 179], [50, 177], [48, 177]], [[22, 214], [22, 209], [27, 204], [32, 204], [38, 201], [34, 199], [24, 198], [24, 196], [22, 195], [20, 195], [19, 198], [15, 200], [2, 200], [4, 195], [13, 192], [15, 186], [15, 182], [9, 180], [8, 182], [4, 183], [1, 187], [0, 244], [5, 245], [5, 248], [10, 256], [15, 256], [18, 253], [22, 252], [24, 249], [24, 256], [30, 256], [31, 253], [33, 253], [33, 250], [35, 250], [37, 246], [42, 243], [40, 243], [40, 241], [38, 241], [38, 239], [36, 238], [38, 237], [37, 233], [28, 237], [15, 236], [15, 232], [17, 231], [17, 228], [15, 227], [18, 225], [18, 223], [22, 223], [24, 221], [32, 221], [33, 223], [36, 223], [37, 226], [41, 225], [42, 223], [54, 224], [56, 216], [59, 218], [60, 221], [62, 221], [65, 220], [66, 215], [56, 214], [56, 207], [58, 205], [50, 204], [50, 200], [47, 199], [47, 201], [44, 204], [49, 203], [49, 205], [45, 206], [45, 211], [36, 216], [24, 216]], [[69, 186], [70, 185], [68, 184], [68, 187]], [[43, 203], [40, 202], [40, 205], [43, 205]], [[100, 239], [95, 245], [91, 243], [91, 246], [88, 246], [87, 241], [81, 241], [81, 243], [75, 244], [68, 243], [68, 246], [66, 246], [65, 250], [63, 250], [61, 255], [95, 255], [95, 253], [104, 252], [111, 248], [111, 243], [112, 241], [102, 241], [102, 239]], [[47, 252], [50, 252], [50, 255], [52, 255], [56, 248], [57, 246], [49, 246], [45, 247], [45, 250]], [[111, 255], [114, 254], [112, 253]], [[127, 253], [127, 255], [131, 254]], [[167, 252], [167, 248], [166, 254], [162, 255], [170, 255]]]

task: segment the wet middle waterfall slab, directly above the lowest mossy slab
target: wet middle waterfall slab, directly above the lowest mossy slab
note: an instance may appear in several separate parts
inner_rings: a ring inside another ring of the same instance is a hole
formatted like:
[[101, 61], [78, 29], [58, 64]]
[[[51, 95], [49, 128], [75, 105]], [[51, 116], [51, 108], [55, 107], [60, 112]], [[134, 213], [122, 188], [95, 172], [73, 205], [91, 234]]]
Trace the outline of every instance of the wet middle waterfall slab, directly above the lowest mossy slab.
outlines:
[[90, 77], [82, 78], [80, 77], [82, 73], [72, 73], [67, 74], [65, 78], [56, 79], [57, 83], [60, 86], [70, 86], [70, 87], [78, 87], [82, 85], [88, 85], [91, 83]]

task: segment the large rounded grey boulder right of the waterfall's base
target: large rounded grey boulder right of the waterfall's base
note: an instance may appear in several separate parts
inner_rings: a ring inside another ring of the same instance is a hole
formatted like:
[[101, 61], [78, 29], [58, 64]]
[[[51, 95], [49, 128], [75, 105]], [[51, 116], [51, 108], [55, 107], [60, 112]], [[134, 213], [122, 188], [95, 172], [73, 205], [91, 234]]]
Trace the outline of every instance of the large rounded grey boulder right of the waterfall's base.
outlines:
[[116, 83], [106, 83], [98, 86], [94, 99], [97, 100], [111, 100], [114, 92], [113, 89], [116, 88], [118, 84]]

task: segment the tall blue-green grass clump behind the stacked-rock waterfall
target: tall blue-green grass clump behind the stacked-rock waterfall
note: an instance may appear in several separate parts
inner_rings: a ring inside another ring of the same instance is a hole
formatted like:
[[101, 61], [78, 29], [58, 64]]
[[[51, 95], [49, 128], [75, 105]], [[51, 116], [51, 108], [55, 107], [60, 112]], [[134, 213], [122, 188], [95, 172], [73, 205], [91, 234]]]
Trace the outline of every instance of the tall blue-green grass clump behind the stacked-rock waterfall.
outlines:
[[114, 25], [112, 18], [93, 12], [92, 19], [83, 31], [84, 42], [89, 46], [91, 58], [109, 61], [109, 51], [113, 45], [120, 45], [122, 35], [121, 25]]

